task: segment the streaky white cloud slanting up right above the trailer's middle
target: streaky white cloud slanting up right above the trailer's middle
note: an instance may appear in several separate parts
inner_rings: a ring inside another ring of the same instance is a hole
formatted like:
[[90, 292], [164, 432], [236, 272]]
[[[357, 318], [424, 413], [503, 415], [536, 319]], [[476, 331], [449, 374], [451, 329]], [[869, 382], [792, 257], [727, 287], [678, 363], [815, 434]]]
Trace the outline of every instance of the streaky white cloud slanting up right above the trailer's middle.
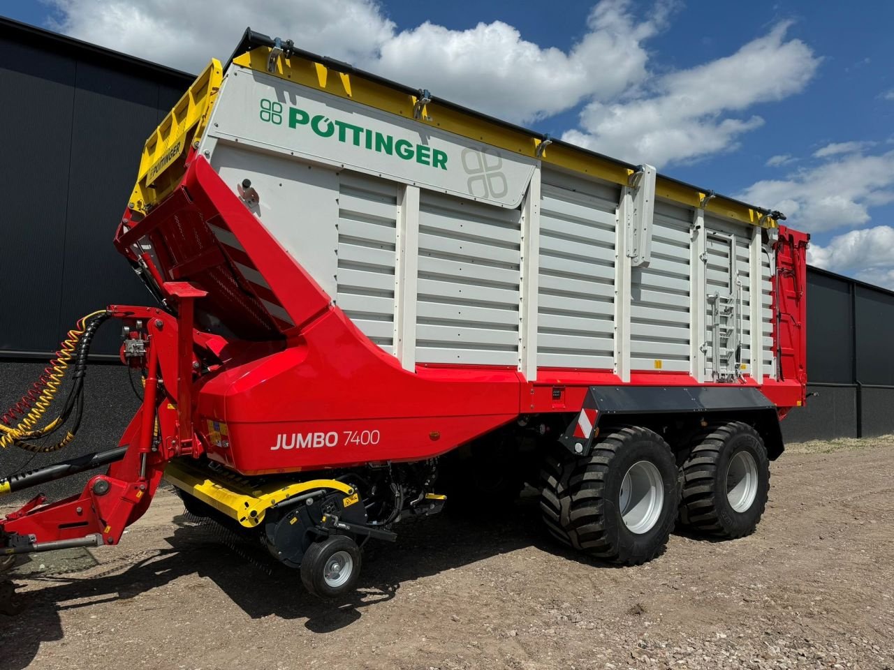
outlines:
[[758, 103], [803, 90], [820, 59], [789, 23], [742, 46], [735, 54], [654, 80], [651, 93], [606, 104], [595, 100], [580, 115], [581, 130], [564, 138], [631, 163], [661, 166], [737, 147], [738, 138], [763, 125], [757, 115], [730, 116]]

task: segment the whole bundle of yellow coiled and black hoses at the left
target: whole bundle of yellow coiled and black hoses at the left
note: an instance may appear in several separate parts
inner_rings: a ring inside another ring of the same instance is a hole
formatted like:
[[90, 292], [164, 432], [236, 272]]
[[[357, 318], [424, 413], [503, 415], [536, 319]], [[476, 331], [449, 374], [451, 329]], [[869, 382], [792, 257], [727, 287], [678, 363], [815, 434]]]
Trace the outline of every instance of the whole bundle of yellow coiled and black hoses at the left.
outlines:
[[[27, 449], [37, 453], [57, 451], [67, 447], [74, 439], [80, 426], [80, 417], [83, 410], [83, 378], [87, 368], [87, 356], [93, 334], [105, 319], [108, 318], [105, 310], [99, 310], [80, 318], [75, 327], [68, 331], [68, 336], [56, 352], [56, 356], [47, 365], [46, 370], [36, 381], [31, 389], [0, 417], [0, 448], [10, 445]], [[69, 391], [68, 398], [62, 411], [56, 418], [45, 426], [38, 428], [40, 418], [46, 414], [46, 410], [53, 403], [56, 394], [62, 387], [63, 377], [70, 369], [70, 362], [74, 361], [74, 383]], [[66, 431], [61, 440], [54, 444], [38, 445], [30, 440], [38, 440], [59, 430], [72, 415], [72, 410], [77, 410], [76, 420], [69, 431]], [[19, 423], [10, 425], [18, 420]]]

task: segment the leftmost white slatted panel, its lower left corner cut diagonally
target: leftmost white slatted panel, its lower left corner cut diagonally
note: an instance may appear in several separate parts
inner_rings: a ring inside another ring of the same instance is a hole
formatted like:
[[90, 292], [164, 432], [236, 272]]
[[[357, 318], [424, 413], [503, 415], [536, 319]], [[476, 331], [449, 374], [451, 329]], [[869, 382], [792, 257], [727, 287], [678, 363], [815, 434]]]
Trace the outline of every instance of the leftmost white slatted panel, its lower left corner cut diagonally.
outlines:
[[394, 342], [398, 185], [340, 175], [336, 305], [385, 351]]

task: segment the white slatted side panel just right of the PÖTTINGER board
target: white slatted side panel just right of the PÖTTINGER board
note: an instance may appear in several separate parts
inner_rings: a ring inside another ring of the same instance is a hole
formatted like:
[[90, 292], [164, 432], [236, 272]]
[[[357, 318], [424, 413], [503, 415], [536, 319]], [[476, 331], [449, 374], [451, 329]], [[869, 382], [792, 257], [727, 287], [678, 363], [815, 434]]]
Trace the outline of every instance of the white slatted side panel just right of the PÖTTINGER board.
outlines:
[[543, 180], [537, 365], [611, 369], [620, 188], [560, 172]]

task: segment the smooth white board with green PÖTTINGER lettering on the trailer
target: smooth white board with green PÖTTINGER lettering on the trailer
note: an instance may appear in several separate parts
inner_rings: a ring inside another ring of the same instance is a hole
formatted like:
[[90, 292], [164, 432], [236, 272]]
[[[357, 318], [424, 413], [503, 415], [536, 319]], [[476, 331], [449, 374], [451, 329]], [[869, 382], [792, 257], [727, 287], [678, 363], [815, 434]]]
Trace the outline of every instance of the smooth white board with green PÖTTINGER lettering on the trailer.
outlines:
[[521, 204], [536, 165], [533, 158], [238, 65], [227, 69], [210, 121], [207, 139], [509, 208]]

